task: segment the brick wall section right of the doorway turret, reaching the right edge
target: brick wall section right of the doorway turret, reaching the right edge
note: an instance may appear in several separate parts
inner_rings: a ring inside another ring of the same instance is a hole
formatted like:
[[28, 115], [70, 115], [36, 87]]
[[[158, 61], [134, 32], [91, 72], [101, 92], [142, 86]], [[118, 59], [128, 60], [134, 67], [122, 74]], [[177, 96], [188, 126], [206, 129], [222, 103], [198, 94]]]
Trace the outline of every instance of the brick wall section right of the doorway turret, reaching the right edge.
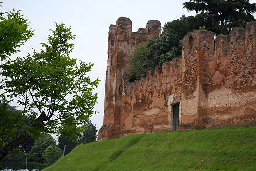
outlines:
[[[256, 22], [218, 35], [208, 57], [202, 127], [253, 125], [256, 121]], [[228, 41], [229, 40], [229, 41]]]

